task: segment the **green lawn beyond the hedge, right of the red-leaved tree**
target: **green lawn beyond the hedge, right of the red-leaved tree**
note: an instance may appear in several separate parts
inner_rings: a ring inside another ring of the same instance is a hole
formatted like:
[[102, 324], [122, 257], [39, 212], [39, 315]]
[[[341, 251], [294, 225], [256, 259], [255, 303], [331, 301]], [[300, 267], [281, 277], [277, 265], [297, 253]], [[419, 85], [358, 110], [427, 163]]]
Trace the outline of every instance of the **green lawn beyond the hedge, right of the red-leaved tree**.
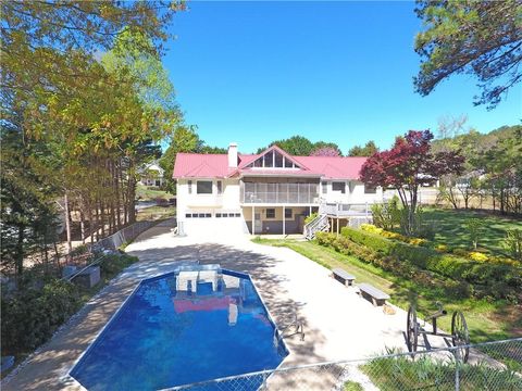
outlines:
[[424, 210], [425, 222], [435, 229], [436, 242], [471, 250], [472, 243], [465, 229], [465, 222], [470, 218], [480, 218], [485, 223], [478, 245], [496, 253], [504, 253], [505, 251], [501, 242], [507, 229], [522, 229], [521, 219], [501, 218], [472, 211], [431, 207]]

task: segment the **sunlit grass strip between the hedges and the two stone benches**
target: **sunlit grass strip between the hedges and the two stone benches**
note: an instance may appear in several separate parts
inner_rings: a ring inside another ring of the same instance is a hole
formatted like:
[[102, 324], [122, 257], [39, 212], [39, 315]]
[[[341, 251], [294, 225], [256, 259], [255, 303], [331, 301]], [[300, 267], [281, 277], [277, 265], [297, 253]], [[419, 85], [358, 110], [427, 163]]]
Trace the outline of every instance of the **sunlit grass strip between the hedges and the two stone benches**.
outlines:
[[[420, 316], [436, 311], [434, 303], [440, 301], [451, 314], [462, 311], [468, 321], [472, 342], [498, 340], [522, 336], [522, 306], [506, 301], [489, 302], [485, 299], [448, 297], [444, 290], [430, 288], [414, 280], [406, 280], [355, 256], [344, 255], [315, 242], [295, 240], [256, 239], [261, 244], [287, 247], [326, 268], [339, 267], [352, 274], [357, 282], [368, 282], [387, 292], [390, 302], [408, 310], [410, 301], [417, 302]], [[438, 326], [451, 329], [451, 316], [438, 319]], [[406, 328], [406, 325], [405, 325]]]

